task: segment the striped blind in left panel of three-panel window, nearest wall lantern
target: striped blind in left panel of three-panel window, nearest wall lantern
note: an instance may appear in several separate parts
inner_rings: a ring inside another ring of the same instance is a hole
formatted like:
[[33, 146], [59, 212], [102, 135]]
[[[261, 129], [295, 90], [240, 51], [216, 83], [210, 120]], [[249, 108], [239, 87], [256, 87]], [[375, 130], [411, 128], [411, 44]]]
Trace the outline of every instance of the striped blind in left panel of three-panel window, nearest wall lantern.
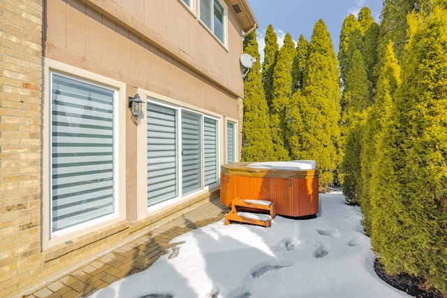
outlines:
[[175, 198], [177, 111], [147, 103], [147, 205]]

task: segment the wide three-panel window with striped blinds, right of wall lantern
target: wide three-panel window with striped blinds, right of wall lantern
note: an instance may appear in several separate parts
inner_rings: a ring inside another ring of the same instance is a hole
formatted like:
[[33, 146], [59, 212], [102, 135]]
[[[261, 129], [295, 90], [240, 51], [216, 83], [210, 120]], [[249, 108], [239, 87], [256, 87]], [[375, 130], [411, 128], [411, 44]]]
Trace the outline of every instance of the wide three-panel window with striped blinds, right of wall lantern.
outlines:
[[219, 180], [219, 121], [182, 107], [147, 102], [147, 206]]

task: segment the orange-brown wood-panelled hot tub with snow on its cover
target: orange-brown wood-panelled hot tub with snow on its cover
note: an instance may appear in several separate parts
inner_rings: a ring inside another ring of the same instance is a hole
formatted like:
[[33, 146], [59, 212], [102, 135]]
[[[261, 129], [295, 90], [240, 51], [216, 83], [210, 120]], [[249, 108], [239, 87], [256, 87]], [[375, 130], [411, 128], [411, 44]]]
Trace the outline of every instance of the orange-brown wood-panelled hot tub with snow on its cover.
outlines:
[[221, 165], [221, 202], [235, 198], [277, 202], [277, 214], [318, 214], [318, 167], [314, 161]]

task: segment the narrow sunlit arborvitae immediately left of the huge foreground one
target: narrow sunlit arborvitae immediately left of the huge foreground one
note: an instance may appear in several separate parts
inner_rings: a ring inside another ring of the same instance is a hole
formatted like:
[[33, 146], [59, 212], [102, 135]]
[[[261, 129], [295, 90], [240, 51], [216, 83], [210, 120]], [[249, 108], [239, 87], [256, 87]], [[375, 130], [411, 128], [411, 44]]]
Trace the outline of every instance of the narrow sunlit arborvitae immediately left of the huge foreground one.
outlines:
[[376, 146], [379, 141], [379, 136], [381, 135], [381, 131], [383, 131], [386, 119], [391, 117], [390, 107], [393, 103], [395, 91], [397, 87], [400, 86], [400, 64], [395, 57], [392, 42], [388, 43], [383, 61], [383, 68], [377, 82], [377, 93], [374, 105], [367, 113], [365, 131], [361, 138], [361, 185], [359, 188], [359, 200], [362, 214], [364, 216], [362, 224], [365, 227], [365, 232], [367, 232], [369, 236], [372, 234], [371, 222], [373, 216], [370, 203], [372, 191], [372, 165], [378, 154], [376, 152]]

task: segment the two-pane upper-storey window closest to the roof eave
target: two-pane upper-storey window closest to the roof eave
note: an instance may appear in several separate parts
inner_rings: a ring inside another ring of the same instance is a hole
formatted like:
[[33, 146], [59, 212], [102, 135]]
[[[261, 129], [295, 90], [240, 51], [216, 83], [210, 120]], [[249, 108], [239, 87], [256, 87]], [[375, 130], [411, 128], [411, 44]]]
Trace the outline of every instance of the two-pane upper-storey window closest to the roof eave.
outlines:
[[200, 20], [225, 43], [226, 8], [219, 0], [200, 0]]

